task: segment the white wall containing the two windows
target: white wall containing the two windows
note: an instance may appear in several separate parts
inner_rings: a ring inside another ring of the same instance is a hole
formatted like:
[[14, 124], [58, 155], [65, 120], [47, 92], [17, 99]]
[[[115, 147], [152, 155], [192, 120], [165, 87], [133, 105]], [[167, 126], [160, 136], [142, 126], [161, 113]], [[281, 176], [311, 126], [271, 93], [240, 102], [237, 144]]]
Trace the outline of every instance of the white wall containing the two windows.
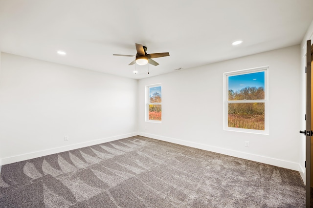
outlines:
[[[269, 135], [223, 130], [223, 73], [266, 65]], [[139, 80], [139, 134], [299, 170], [299, 67], [296, 45]], [[154, 83], [162, 83], [161, 124], [144, 119], [145, 85]]]

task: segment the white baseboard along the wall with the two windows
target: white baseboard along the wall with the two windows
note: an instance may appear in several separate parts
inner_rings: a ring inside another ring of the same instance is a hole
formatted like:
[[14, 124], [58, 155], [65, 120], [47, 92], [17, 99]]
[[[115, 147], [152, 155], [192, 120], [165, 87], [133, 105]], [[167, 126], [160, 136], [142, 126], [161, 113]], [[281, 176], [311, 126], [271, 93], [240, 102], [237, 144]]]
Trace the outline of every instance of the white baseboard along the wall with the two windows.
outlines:
[[179, 144], [179, 145], [183, 145], [183, 146], [190, 146], [190, 147], [203, 149], [203, 150], [207, 150], [207, 151], [211, 151], [211, 152], [221, 153], [224, 155], [238, 157], [238, 158], [242, 158], [242, 159], [246, 159], [246, 160], [252, 160], [252, 161], [259, 162], [259, 163], [265, 163], [265, 164], [272, 165], [272, 166], [284, 167], [287, 169], [299, 171], [300, 174], [302, 171], [300, 164], [290, 162], [290, 161], [280, 160], [280, 159], [276, 159], [276, 158], [269, 158], [269, 157], [265, 157], [262, 155], [255, 155], [255, 154], [235, 151], [235, 150], [231, 150], [231, 149], [225, 149], [225, 148], [221, 148], [221, 147], [217, 147], [217, 146], [203, 145], [203, 144], [194, 143], [194, 142], [190, 142], [190, 141], [184, 141], [184, 140], [179, 140], [179, 139], [175, 139], [175, 138], [164, 137], [164, 136], [159, 136], [159, 135], [149, 134], [149, 133], [144, 133], [144, 132], [138, 132], [138, 135], [144, 136], [144, 137], [150, 137], [150, 138], [157, 139], [157, 140], [162, 140], [165, 142], [175, 143], [175, 144]]

